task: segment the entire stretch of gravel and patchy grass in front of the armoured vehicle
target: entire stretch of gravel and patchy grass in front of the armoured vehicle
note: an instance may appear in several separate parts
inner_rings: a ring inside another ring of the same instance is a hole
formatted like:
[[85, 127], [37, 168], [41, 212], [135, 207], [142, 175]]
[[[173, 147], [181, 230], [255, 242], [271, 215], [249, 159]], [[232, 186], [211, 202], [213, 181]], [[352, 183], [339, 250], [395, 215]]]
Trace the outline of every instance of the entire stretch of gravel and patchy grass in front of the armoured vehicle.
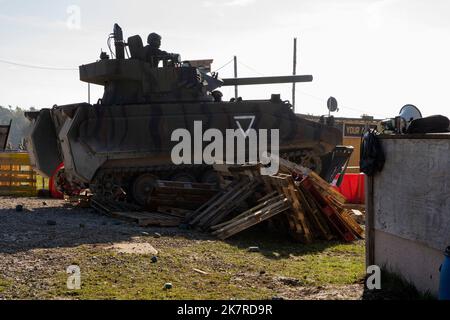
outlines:
[[[251, 239], [222, 242], [141, 228], [60, 200], [3, 197], [0, 299], [362, 298], [363, 243]], [[249, 253], [254, 245], [261, 251]], [[80, 291], [66, 287], [70, 265], [81, 268]], [[173, 290], [162, 289], [167, 282]]]

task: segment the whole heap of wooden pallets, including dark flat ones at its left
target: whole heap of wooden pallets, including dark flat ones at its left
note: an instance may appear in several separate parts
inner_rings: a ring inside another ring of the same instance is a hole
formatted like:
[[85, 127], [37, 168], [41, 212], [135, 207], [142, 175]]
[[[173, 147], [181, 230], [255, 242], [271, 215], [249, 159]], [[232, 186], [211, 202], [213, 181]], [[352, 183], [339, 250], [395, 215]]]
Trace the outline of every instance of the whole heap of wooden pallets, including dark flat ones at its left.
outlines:
[[315, 172], [283, 159], [277, 161], [280, 173], [273, 176], [262, 176], [260, 164], [215, 166], [221, 177], [220, 191], [214, 185], [158, 181], [147, 208], [95, 198], [91, 206], [141, 226], [184, 223], [220, 239], [264, 221], [283, 226], [302, 243], [350, 242], [364, 237], [343, 195]]

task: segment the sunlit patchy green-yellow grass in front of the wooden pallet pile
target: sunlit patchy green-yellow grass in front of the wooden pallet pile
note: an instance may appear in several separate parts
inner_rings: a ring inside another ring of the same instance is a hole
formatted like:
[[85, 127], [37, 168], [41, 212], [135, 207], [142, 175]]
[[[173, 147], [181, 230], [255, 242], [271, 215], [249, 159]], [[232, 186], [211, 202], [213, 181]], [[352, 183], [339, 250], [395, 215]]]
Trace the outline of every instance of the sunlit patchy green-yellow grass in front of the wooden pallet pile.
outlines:
[[[349, 285], [364, 278], [363, 243], [295, 244], [285, 240], [230, 242], [172, 238], [155, 244], [157, 263], [149, 255], [119, 254], [81, 246], [71, 257], [81, 268], [82, 289], [66, 287], [67, 274], [60, 272], [42, 292], [49, 299], [270, 299], [291, 278], [299, 286]], [[260, 252], [249, 253], [249, 246]], [[207, 274], [200, 274], [200, 269]], [[173, 289], [164, 290], [165, 283]]]

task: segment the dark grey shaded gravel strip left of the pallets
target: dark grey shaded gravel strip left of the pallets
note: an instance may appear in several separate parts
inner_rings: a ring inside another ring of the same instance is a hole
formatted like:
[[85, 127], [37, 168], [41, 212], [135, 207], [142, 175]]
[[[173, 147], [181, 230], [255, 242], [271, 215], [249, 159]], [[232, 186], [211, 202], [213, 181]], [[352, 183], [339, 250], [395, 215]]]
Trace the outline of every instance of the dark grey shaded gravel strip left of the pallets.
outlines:
[[[17, 205], [23, 205], [24, 211], [16, 212]], [[0, 198], [0, 208], [0, 254], [112, 244], [130, 240], [144, 231], [163, 231], [165, 234], [175, 231], [143, 229], [101, 216], [91, 209], [73, 208], [62, 200]]]

